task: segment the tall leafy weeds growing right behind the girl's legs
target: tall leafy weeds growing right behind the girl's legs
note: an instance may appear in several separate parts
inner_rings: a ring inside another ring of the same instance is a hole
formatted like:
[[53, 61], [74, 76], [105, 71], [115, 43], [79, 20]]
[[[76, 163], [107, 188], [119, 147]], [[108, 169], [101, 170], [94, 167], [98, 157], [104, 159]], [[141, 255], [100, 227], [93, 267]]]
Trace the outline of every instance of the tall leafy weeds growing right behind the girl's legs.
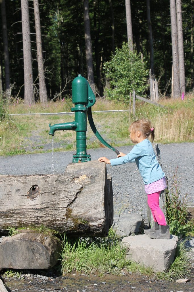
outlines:
[[172, 177], [170, 189], [166, 191], [167, 222], [170, 225], [170, 233], [175, 235], [185, 235], [192, 232], [193, 223], [189, 220], [186, 208], [186, 195], [180, 197], [180, 182], [178, 180], [178, 167]]

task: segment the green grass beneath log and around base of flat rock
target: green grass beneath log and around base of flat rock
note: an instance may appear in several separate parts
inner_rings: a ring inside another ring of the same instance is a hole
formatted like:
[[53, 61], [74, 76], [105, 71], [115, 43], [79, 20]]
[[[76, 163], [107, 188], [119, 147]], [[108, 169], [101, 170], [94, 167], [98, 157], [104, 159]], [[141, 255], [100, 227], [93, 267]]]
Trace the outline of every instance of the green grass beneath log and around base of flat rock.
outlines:
[[62, 274], [71, 272], [85, 272], [86, 274], [98, 273], [100, 277], [106, 273], [119, 275], [122, 271], [140, 273], [157, 279], [172, 280], [189, 275], [189, 261], [187, 258], [188, 248], [186, 240], [178, 241], [175, 261], [167, 272], [154, 273], [152, 267], [145, 267], [138, 263], [126, 260], [127, 247], [121, 244], [113, 229], [107, 238], [80, 238], [69, 240], [63, 239], [61, 253]]

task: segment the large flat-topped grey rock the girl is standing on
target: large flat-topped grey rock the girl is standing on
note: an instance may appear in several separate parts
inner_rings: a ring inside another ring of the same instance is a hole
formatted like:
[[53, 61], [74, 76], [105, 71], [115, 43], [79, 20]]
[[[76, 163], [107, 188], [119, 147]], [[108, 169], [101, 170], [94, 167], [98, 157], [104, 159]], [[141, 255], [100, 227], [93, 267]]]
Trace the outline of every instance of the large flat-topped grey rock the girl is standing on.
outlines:
[[126, 258], [152, 267], [154, 272], [164, 272], [170, 267], [177, 242], [175, 235], [171, 235], [171, 239], [152, 239], [146, 234], [139, 234], [122, 239], [122, 243], [129, 247]]

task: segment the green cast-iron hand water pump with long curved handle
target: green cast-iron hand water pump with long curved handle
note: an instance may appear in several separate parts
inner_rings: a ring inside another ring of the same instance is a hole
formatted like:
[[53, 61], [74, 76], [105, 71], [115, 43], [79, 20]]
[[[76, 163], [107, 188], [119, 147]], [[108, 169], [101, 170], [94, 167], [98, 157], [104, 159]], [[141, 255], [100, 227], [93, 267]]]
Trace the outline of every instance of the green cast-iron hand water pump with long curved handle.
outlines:
[[109, 145], [97, 131], [92, 119], [92, 105], [96, 102], [95, 95], [86, 80], [80, 74], [72, 81], [72, 103], [75, 105], [71, 111], [75, 113], [75, 120], [72, 122], [55, 124], [50, 127], [49, 135], [54, 136], [55, 131], [74, 130], [76, 131], [76, 154], [73, 155], [73, 163], [86, 162], [91, 160], [90, 154], [86, 152], [86, 131], [87, 131], [87, 114], [88, 121], [95, 136], [106, 147], [119, 154], [119, 151]]

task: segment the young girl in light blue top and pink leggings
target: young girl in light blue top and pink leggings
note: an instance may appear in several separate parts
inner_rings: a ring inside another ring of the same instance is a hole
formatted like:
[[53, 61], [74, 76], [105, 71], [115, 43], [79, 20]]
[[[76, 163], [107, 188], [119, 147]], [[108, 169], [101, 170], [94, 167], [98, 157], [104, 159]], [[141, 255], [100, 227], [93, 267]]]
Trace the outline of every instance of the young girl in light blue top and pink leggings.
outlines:
[[136, 162], [145, 184], [147, 204], [155, 222], [155, 226], [144, 230], [144, 233], [150, 238], [170, 239], [169, 226], [166, 225], [164, 214], [159, 207], [160, 192], [166, 188], [165, 173], [156, 159], [152, 143], [148, 140], [150, 135], [152, 142], [154, 141], [154, 127], [148, 119], [140, 119], [130, 125], [129, 131], [131, 141], [137, 143], [130, 153], [126, 155], [120, 152], [118, 158], [109, 160], [100, 157], [98, 160], [111, 166]]

